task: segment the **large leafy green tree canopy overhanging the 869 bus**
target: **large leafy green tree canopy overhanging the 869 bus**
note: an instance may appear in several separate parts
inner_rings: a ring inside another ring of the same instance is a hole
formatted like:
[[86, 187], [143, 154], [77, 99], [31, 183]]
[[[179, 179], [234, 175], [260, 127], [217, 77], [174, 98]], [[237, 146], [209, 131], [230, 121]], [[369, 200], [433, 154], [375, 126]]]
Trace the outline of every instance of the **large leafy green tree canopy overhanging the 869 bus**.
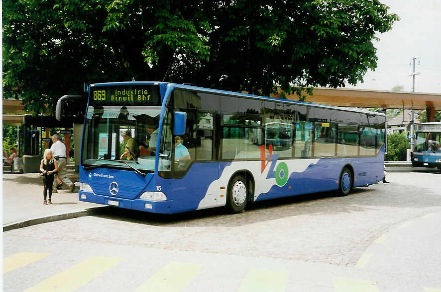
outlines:
[[3, 96], [53, 110], [83, 83], [192, 82], [269, 94], [356, 84], [376, 68], [378, 0], [9, 0]]

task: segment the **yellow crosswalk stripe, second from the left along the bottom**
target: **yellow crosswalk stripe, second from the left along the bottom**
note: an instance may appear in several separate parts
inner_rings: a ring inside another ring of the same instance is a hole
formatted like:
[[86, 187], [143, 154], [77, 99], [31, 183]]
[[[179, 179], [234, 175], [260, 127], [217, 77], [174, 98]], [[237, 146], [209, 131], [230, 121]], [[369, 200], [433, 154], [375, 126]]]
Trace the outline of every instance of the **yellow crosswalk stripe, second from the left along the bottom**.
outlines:
[[106, 272], [120, 261], [122, 259], [119, 258], [91, 257], [26, 291], [73, 291]]

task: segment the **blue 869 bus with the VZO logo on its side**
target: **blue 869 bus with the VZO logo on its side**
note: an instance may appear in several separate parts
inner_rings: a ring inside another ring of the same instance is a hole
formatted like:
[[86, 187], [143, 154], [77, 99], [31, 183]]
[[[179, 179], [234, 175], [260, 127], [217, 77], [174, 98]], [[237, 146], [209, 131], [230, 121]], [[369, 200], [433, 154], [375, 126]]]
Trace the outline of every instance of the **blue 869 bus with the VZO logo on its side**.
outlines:
[[383, 113], [166, 82], [92, 84], [79, 199], [170, 214], [344, 196], [382, 180], [384, 141]]

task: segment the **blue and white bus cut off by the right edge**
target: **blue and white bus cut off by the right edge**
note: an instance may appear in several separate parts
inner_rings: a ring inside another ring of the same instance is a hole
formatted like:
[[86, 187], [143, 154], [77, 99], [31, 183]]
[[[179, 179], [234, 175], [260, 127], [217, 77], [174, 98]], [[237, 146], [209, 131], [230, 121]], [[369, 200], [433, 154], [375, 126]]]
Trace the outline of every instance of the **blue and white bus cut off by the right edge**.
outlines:
[[438, 167], [441, 170], [441, 123], [416, 124], [415, 133], [412, 167]]

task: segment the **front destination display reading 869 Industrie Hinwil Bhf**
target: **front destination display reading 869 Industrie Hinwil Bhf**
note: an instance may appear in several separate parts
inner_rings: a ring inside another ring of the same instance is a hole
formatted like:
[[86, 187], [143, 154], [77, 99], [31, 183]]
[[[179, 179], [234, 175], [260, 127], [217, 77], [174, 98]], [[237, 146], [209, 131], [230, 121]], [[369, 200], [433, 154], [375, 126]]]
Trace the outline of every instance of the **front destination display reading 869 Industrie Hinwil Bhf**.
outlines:
[[159, 86], [93, 86], [91, 105], [161, 105]]

